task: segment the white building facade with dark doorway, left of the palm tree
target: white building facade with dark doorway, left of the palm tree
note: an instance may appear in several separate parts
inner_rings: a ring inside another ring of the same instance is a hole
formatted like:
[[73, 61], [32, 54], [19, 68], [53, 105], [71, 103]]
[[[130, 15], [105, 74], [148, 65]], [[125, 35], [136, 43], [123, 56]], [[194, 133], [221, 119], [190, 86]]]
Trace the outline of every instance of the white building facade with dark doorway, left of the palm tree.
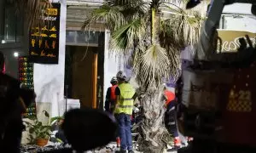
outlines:
[[[101, 22], [81, 31], [86, 14], [100, 5], [102, 1], [96, 0], [61, 1], [59, 64], [33, 65], [38, 108], [47, 105], [52, 116], [62, 114], [64, 95], [67, 101], [79, 99], [81, 106], [102, 108], [111, 77], [122, 70], [121, 60], [108, 53], [109, 32]], [[7, 1], [0, 2], [0, 51], [7, 74], [18, 78], [18, 57], [28, 56], [29, 37], [22, 14], [13, 14], [14, 9]]]

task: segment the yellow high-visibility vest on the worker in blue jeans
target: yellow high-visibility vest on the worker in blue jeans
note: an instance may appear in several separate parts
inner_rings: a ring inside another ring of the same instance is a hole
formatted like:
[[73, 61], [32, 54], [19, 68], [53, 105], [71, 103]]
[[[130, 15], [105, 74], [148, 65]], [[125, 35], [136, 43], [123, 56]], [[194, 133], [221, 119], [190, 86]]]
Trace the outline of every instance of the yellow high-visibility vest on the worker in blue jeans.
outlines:
[[125, 113], [128, 115], [132, 114], [133, 109], [133, 99], [132, 97], [135, 94], [135, 89], [129, 83], [119, 84], [120, 95], [117, 99], [117, 107], [115, 108], [115, 113]]

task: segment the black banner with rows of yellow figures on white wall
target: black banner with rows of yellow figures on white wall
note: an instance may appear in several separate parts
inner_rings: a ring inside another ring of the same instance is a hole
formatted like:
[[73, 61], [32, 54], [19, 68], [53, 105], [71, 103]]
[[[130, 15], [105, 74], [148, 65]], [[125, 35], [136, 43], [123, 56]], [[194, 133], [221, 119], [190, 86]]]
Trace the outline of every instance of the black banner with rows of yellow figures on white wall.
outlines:
[[61, 4], [43, 10], [44, 26], [32, 27], [29, 33], [30, 61], [41, 64], [58, 64]]

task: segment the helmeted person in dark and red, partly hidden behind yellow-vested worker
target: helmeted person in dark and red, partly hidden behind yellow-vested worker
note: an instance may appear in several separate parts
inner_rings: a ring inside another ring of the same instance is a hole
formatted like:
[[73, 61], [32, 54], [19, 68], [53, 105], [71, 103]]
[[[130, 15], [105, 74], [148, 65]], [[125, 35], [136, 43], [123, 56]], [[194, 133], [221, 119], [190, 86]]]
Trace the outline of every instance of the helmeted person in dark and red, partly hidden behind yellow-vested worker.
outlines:
[[113, 108], [116, 101], [116, 95], [115, 95], [115, 88], [118, 86], [118, 80], [116, 77], [112, 77], [111, 81], [111, 87], [108, 88], [107, 94], [106, 94], [106, 101], [105, 101], [105, 111], [107, 111], [110, 114], [113, 114]]

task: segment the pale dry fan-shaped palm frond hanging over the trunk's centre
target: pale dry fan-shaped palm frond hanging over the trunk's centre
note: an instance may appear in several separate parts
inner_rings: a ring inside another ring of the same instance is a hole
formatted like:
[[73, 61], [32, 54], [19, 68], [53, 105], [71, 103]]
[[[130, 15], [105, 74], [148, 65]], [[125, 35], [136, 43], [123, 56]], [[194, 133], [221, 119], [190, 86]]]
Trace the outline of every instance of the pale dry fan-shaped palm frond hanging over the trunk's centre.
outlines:
[[166, 49], [161, 48], [160, 44], [151, 45], [144, 51], [143, 49], [143, 46], [137, 48], [140, 54], [133, 66], [137, 74], [137, 82], [145, 89], [149, 86], [158, 88], [163, 80], [169, 77], [170, 63]]

